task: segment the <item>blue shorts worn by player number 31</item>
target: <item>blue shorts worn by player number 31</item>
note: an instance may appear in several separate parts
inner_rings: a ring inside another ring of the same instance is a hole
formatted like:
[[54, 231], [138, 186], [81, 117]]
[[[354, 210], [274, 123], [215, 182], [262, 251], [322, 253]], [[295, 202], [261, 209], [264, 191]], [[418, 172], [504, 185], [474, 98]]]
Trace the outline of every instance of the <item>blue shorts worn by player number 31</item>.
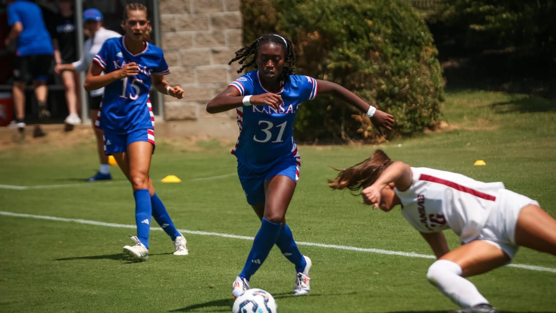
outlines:
[[237, 162], [237, 176], [240, 178], [241, 187], [245, 192], [247, 203], [258, 205], [265, 203], [265, 181], [277, 175], [290, 177], [297, 183], [299, 180], [299, 158], [286, 158], [277, 162], [265, 172], [255, 172]]

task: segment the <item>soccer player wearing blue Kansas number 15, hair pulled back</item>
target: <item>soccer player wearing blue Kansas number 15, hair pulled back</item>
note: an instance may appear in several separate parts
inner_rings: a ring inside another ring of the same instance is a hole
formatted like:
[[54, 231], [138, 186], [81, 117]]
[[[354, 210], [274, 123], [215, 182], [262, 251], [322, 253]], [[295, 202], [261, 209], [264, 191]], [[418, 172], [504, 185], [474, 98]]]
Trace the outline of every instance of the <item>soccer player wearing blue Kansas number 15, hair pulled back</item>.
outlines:
[[183, 90], [171, 87], [163, 78], [170, 69], [162, 49], [148, 42], [147, 8], [127, 4], [122, 28], [125, 36], [108, 39], [93, 58], [85, 90], [105, 87], [98, 126], [104, 132], [106, 154], [114, 156], [133, 188], [137, 236], [131, 236], [135, 245], [123, 247], [123, 253], [136, 261], [147, 260], [152, 215], [174, 241], [174, 254], [187, 255], [186, 240], [173, 225], [148, 175], [155, 149], [150, 87], [178, 99], [183, 98]]

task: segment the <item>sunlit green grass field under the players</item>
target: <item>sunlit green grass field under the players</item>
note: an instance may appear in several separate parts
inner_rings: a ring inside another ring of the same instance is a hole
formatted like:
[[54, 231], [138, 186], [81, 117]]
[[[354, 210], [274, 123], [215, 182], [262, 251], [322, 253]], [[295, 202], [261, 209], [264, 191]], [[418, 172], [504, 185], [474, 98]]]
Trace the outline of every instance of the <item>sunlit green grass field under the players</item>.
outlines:
[[[294, 297], [294, 269], [273, 249], [251, 279], [280, 312], [444, 312], [455, 305], [425, 278], [432, 254], [399, 208], [371, 210], [326, 179], [382, 148], [394, 160], [503, 181], [556, 216], [556, 102], [450, 92], [443, 131], [381, 146], [300, 146], [301, 177], [287, 219], [311, 257], [311, 293]], [[231, 284], [259, 221], [235, 175], [231, 144], [157, 137], [158, 195], [190, 255], [153, 227], [147, 262], [123, 260], [135, 216], [131, 188], [85, 183], [97, 167], [89, 133], [71, 145], [0, 150], [0, 312], [231, 312]], [[473, 166], [484, 160], [486, 166]], [[176, 175], [181, 183], [162, 183]], [[446, 231], [451, 247], [458, 240]], [[503, 312], [556, 312], [556, 258], [520, 249], [513, 266], [471, 277]]]

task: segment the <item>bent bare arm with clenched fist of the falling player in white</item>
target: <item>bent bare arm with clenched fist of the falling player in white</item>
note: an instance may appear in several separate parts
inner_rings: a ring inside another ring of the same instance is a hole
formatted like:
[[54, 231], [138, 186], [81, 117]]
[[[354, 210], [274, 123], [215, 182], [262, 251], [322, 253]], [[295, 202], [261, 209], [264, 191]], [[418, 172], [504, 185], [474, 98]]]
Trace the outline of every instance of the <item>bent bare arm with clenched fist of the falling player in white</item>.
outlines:
[[373, 205], [373, 208], [378, 208], [380, 203], [380, 191], [383, 190], [389, 183], [394, 183], [394, 186], [400, 190], [405, 191], [413, 183], [413, 172], [411, 168], [404, 162], [396, 161], [390, 164], [373, 185], [366, 187], [361, 191], [363, 200], [368, 205]]

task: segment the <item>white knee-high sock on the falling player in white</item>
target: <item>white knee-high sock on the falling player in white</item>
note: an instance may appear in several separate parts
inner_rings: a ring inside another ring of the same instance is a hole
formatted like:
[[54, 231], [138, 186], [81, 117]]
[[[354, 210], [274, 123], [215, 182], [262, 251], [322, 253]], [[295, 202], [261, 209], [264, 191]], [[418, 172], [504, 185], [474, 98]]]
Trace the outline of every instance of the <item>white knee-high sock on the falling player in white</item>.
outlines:
[[461, 267], [455, 262], [448, 260], [434, 262], [429, 267], [426, 278], [461, 307], [489, 303], [472, 282], [461, 277]]

